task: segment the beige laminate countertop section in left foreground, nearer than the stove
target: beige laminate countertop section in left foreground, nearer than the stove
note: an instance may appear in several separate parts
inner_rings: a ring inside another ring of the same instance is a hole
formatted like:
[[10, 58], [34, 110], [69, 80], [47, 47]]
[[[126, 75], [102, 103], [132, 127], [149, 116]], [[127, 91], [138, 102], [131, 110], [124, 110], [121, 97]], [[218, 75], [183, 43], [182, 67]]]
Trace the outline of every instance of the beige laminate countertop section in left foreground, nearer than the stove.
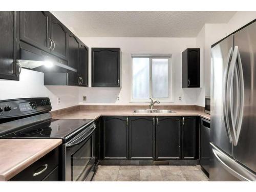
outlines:
[[61, 143], [61, 139], [0, 139], [0, 181], [8, 181]]

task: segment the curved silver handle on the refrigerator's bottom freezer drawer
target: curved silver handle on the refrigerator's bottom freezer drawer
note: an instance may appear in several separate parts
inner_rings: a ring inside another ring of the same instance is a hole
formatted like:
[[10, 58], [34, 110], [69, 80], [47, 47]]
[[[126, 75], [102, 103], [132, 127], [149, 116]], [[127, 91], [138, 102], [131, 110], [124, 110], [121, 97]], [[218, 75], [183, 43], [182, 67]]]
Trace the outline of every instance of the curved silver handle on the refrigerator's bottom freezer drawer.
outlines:
[[247, 170], [245, 167], [240, 165], [237, 161], [234, 159], [228, 157], [226, 154], [220, 152], [220, 150], [214, 146], [214, 144], [210, 143], [212, 145], [212, 153], [214, 154], [215, 158], [219, 161], [221, 166], [231, 175], [234, 177], [240, 179], [241, 181], [255, 181], [256, 175], [254, 175], [252, 172]]

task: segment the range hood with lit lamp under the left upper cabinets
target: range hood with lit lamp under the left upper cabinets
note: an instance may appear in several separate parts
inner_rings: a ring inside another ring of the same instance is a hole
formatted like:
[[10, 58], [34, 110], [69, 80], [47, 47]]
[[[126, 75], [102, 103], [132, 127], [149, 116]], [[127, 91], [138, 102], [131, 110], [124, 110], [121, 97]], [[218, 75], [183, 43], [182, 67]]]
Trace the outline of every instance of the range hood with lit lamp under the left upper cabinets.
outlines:
[[55, 57], [20, 41], [20, 59], [17, 62], [22, 68], [42, 73], [76, 73], [77, 70], [68, 66], [66, 60]]

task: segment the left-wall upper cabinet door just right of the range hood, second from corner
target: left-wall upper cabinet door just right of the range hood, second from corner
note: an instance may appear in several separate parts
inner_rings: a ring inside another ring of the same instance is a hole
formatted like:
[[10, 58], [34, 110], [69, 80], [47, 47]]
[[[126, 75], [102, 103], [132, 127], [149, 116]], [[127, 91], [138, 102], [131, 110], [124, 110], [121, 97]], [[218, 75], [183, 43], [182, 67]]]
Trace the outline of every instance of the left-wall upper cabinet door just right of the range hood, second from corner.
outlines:
[[77, 73], [68, 73], [68, 84], [78, 86], [79, 41], [72, 34], [69, 35], [69, 61], [68, 66], [77, 70]]

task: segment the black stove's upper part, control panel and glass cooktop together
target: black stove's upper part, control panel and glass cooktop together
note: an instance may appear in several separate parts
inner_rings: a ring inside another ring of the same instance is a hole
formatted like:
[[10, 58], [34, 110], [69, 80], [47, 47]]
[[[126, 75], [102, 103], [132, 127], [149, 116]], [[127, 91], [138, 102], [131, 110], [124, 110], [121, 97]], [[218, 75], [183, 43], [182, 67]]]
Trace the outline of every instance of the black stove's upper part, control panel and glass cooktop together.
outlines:
[[0, 139], [61, 138], [68, 141], [93, 119], [53, 119], [49, 98], [0, 101]]

